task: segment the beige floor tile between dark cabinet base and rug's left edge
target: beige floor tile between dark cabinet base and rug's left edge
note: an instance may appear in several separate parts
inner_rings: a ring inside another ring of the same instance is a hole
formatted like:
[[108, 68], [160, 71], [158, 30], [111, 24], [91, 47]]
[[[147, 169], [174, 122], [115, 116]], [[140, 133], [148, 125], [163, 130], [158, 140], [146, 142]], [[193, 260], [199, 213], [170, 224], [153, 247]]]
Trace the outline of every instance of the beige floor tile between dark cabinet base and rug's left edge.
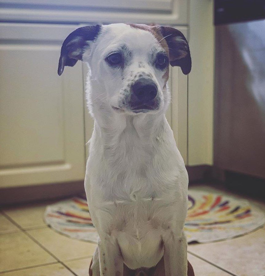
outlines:
[[3, 212], [24, 230], [45, 227], [43, 220], [45, 208], [49, 203], [30, 204], [4, 209]]

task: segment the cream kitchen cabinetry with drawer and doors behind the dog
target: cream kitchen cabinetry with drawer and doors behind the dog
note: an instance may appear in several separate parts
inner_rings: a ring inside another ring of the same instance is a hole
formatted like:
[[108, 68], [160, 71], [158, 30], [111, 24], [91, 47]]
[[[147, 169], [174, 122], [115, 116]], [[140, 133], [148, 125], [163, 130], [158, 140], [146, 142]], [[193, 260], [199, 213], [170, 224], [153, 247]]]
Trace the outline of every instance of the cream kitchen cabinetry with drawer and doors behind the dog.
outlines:
[[82, 0], [67, 7], [62, 1], [47, 6], [42, 0], [0, 0], [1, 20], [8, 21], [0, 26], [0, 187], [84, 179], [93, 130], [84, 96], [86, 67], [77, 62], [59, 77], [57, 62], [72, 30], [97, 23], [155, 22], [175, 26], [189, 38], [193, 68], [189, 76], [171, 68], [166, 117], [185, 164], [212, 165], [212, 1], [157, 1], [165, 3], [161, 9], [154, 2], [143, 1], [149, 7], [136, 11], [107, 7], [105, 0], [97, 7]]

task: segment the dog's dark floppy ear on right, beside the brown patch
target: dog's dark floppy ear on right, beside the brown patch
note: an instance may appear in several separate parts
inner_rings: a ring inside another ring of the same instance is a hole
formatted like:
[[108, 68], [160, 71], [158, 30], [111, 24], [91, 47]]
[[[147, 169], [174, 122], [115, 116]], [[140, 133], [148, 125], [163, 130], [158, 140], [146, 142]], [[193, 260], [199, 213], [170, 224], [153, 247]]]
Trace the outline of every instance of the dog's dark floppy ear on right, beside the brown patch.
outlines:
[[189, 74], [191, 70], [191, 56], [189, 44], [181, 31], [171, 27], [160, 27], [163, 37], [169, 47], [169, 59], [171, 66], [179, 66], [183, 74]]

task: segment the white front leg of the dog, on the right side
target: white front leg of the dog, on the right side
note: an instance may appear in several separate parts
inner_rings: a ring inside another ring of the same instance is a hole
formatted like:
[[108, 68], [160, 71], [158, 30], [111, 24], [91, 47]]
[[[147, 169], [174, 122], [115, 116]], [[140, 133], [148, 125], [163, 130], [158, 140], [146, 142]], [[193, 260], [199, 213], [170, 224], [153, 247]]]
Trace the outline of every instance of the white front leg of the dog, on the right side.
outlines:
[[165, 276], [187, 276], [187, 240], [171, 232], [164, 242]]

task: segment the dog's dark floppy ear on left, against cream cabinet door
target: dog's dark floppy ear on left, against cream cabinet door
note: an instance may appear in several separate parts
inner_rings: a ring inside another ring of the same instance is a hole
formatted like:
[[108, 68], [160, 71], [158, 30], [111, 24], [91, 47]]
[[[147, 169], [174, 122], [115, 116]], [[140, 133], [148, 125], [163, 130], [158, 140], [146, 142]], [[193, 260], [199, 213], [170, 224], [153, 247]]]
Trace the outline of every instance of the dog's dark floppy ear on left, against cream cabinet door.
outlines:
[[78, 60], [82, 60], [84, 50], [88, 46], [87, 41], [95, 40], [100, 29], [100, 25], [81, 27], [65, 38], [58, 64], [59, 76], [63, 73], [64, 66], [74, 66]]

